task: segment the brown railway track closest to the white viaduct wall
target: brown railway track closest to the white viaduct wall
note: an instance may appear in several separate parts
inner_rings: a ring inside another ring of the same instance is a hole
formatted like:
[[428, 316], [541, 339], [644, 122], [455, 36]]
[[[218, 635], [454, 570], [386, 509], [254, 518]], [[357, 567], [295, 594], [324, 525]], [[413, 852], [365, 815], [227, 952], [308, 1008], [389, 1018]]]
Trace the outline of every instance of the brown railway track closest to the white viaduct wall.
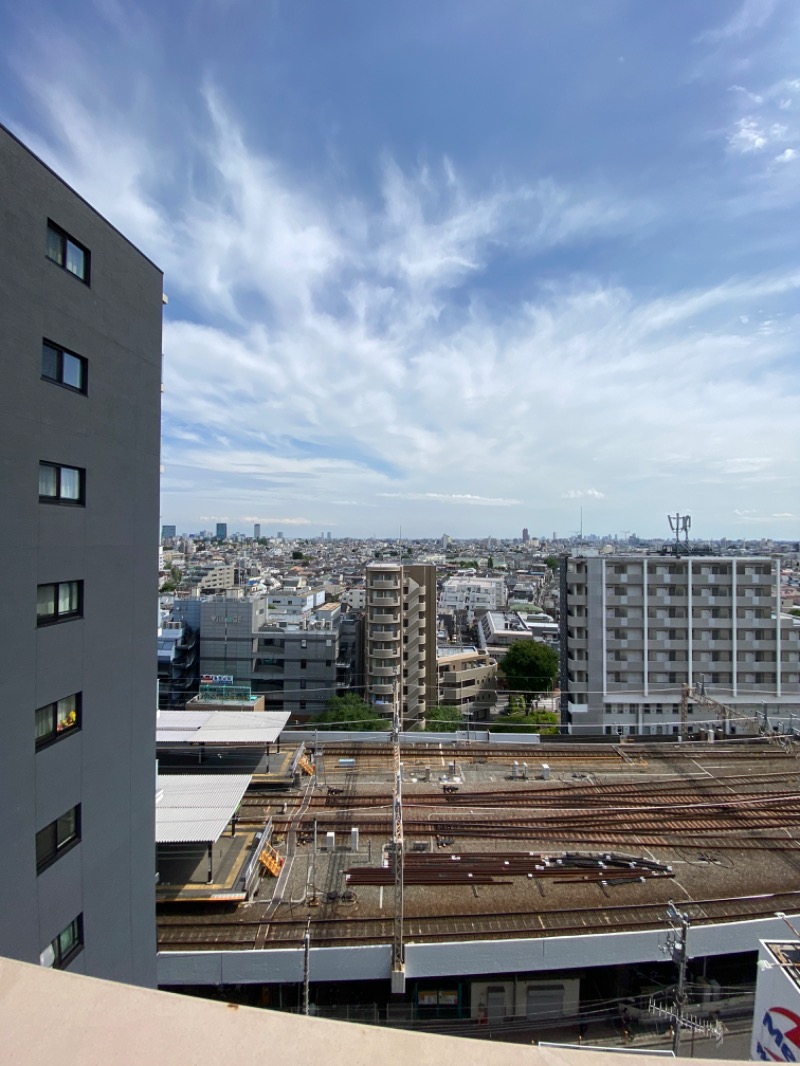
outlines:
[[[800, 891], [697, 900], [692, 903], [679, 901], [679, 906], [697, 924], [719, 924], [743, 918], [768, 918], [779, 910], [796, 914], [800, 910]], [[404, 940], [406, 943], [439, 943], [657, 930], [663, 927], [665, 910], [663, 903], [645, 903], [502, 915], [406, 915]], [[170, 915], [159, 918], [159, 951], [298, 948], [303, 943], [307, 921], [307, 918]], [[313, 916], [310, 928], [311, 943], [318, 948], [390, 943], [394, 916]]]

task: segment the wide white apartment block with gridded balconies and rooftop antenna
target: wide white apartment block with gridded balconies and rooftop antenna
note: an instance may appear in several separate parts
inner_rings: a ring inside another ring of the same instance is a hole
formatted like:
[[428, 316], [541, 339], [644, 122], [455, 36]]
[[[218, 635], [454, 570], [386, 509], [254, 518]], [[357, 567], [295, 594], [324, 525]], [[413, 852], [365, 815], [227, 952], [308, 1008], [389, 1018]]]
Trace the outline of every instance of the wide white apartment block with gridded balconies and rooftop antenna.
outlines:
[[[685, 684], [773, 729], [800, 715], [800, 627], [781, 613], [777, 559], [564, 559], [561, 599], [572, 732], [676, 734]], [[719, 718], [694, 705], [689, 731]]]

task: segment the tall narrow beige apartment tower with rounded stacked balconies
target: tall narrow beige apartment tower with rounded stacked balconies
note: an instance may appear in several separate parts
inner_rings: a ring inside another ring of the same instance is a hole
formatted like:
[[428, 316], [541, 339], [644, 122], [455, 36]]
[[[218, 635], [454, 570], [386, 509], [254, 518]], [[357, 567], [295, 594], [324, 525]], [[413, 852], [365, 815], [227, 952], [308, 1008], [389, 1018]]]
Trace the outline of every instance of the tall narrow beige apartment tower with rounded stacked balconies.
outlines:
[[436, 567], [370, 563], [366, 569], [365, 698], [404, 728], [437, 699]]

